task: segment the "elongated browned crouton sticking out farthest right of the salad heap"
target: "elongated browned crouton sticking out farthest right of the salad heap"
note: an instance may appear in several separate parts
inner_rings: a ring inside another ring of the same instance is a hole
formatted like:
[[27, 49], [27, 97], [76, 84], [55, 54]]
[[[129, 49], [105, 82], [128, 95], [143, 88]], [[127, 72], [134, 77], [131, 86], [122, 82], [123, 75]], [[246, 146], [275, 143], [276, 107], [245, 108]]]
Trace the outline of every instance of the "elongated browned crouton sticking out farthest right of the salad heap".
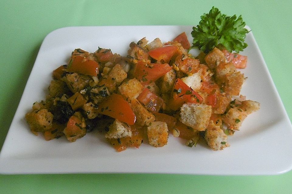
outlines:
[[259, 102], [252, 100], [242, 101], [240, 105], [232, 105], [228, 112], [222, 116], [222, 121], [229, 129], [238, 130], [247, 115], [259, 110]]

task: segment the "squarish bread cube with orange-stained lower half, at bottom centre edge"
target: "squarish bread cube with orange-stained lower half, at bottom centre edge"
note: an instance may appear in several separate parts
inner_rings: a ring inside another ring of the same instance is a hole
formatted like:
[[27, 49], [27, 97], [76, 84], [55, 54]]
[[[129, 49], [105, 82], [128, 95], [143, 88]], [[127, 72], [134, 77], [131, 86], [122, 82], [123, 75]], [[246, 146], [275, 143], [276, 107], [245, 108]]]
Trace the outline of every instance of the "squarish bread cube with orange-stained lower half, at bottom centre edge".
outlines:
[[153, 121], [148, 124], [147, 135], [149, 144], [154, 147], [162, 147], [167, 144], [168, 128], [166, 122]]

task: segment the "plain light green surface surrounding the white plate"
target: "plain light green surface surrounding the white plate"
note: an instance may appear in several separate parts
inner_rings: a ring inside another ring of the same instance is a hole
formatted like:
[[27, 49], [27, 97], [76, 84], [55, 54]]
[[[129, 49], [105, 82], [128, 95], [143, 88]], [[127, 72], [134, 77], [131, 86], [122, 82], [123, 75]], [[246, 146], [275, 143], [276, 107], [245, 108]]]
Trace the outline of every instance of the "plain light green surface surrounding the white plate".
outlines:
[[[0, 148], [49, 32], [66, 26], [197, 25], [213, 5], [224, 14], [242, 15], [250, 26], [292, 118], [292, 1], [0, 2]], [[0, 193], [291, 193], [291, 181], [292, 171], [275, 176], [0, 175]]]

